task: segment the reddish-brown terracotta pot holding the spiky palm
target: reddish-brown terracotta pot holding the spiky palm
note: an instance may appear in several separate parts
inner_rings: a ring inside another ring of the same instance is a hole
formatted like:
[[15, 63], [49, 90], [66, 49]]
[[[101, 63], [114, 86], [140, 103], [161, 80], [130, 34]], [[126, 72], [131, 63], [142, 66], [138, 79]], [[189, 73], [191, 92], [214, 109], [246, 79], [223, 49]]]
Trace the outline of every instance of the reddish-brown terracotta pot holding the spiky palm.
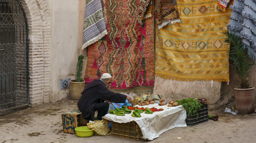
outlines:
[[255, 99], [254, 99], [254, 87], [246, 89], [235, 89], [236, 108], [239, 114], [251, 114], [254, 113]]

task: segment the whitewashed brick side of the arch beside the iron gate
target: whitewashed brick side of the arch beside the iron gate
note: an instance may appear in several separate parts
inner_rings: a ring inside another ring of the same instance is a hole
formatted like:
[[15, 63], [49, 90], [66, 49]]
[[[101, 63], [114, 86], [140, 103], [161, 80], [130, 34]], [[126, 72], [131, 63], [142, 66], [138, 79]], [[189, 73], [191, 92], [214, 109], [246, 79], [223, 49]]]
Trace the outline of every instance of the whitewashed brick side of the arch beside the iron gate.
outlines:
[[48, 103], [50, 98], [50, 8], [47, 0], [19, 0], [29, 30], [30, 104]]

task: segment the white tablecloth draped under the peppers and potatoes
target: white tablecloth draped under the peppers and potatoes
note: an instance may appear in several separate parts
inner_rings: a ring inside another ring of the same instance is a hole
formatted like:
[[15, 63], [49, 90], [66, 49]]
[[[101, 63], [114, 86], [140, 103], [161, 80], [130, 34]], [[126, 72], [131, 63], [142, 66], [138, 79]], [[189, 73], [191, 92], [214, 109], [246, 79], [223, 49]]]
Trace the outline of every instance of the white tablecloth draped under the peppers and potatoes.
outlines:
[[[136, 105], [138, 106], [138, 105]], [[139, 106], [141, 107], [141, 106]], [[162, 108], [163, 111], [154, 112], [153, 114], [141, 113], [140, 118], [132, 117], [131, 114], [125, 114], [125, 116], [117, 116], [113, 114], [107, 114], [103, 119], [118, 123], [127, 123], [135, 121], [141, 130], [142, 138], [147, 140], [153, 140], [163, 132], [173, 129], [175, 127], [186, 127], [186, 110], [181, 106], [168, 107], [167, 105], [160, 106], [158, 104], [149, 104], [143, 106], [144, 108]]]

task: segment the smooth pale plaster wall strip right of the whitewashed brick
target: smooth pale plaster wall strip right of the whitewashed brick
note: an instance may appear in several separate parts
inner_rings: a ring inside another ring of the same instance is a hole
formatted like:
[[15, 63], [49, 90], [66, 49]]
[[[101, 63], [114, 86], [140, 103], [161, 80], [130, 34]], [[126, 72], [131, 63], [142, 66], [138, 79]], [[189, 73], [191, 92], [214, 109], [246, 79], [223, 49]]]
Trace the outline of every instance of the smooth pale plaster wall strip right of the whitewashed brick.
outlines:
[[59, 90], [60, 79], [75, 79], [78, 51], [78, 0], [54, 0], [52, 7], [52, 102], [68, 96]]

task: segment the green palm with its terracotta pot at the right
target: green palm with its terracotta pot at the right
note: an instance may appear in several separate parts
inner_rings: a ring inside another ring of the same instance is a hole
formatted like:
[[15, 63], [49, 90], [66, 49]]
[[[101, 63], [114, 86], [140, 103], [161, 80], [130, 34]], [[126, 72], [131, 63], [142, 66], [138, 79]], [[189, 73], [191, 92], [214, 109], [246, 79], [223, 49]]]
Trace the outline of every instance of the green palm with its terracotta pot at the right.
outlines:
[[229, 59], [233, 61], [231, 66], [236, 69], [239, 76], [240, 87], [234, 88], [236, 108], [239, 114], [253, 113], [255, 108], [254, 87], [249, 86], [247, 73], [255, 65], [255, 62], [247, 55], [247, 48], [239, 36], [228, 30], [223, 33], [227, 36], [225, 42], [230, 44]]

